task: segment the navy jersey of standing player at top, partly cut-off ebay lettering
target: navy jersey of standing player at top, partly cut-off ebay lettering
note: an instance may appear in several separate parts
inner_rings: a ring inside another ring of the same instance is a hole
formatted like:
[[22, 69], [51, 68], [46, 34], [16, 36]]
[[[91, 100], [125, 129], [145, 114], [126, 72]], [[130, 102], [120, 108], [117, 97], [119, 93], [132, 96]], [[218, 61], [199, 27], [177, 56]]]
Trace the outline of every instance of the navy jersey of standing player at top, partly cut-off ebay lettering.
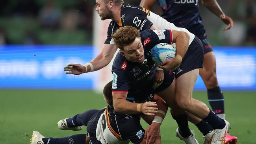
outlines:
[[158, 3], [163, 10], [161, 16], [175, 26], [189, 28], [202, 22], [198, 0], [158, 0]]

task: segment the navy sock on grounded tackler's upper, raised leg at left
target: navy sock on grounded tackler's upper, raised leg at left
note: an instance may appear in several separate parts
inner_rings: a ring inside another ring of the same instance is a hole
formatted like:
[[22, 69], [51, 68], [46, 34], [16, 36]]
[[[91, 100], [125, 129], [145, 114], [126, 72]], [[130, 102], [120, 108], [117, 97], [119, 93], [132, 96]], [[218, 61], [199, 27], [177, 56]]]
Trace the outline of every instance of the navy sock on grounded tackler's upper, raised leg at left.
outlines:
[[85, 111], [84, 113], [76, 114], [74, 117], [67, 119], [67, 124], [69, 127], [87, 126], [90, 118], [98, 111], [100, 110], [90, 109], [88, 111]]

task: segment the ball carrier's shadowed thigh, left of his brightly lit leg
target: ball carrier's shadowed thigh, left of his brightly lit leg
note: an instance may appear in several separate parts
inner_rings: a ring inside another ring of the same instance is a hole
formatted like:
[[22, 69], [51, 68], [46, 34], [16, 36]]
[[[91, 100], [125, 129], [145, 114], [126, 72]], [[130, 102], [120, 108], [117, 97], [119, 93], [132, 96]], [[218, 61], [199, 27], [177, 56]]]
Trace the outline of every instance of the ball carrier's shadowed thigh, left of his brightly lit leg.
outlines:
[[158, 96], [163, 98], [163, 100], [165, 100], [165, 102], [169, 105], [169, 107], [171, 107], [174, 104], [175, 87], [176, 87], [175, 81], [176, 80], [174, 78], [173, 82], [171, 83], [171, 85], [169, 87], [167, 87], [163, 91], [156, 93]]

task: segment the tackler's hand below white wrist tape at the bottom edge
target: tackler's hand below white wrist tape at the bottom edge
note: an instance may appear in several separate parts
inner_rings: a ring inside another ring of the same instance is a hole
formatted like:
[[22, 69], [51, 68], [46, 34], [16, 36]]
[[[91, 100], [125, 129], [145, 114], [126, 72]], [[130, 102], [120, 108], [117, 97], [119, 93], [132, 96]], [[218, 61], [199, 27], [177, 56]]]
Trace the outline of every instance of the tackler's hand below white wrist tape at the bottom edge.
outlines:
[[[145, 131], [146, 144], [161, 144], [159, 123], [152, 122]], [[160, 139], [160, 142], [159, 142]]]

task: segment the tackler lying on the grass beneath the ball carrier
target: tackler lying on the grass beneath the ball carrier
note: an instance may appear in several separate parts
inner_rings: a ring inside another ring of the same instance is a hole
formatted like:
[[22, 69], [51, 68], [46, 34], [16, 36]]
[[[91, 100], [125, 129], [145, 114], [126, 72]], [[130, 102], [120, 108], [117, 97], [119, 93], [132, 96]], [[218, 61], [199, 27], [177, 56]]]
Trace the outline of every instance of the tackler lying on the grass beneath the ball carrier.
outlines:
[[[72, 118], [66, 118], [58, 122], [59, 129], [62, 130], [82, 130], [82, 126], [87, 126], [87, 135], [78, 134], [63, 138], [44, 137], [38, 131], [34, 131], [30, 144], [128, 144], [130, 141], [134, 144], [145, 144], [145, 130], [140, 124], [140, 116], [137, 114], [121, 114], [113, 109], [112, 99], [112, 81], [110, 81], [103, 90], [104, 100], [108, 106], [101, 110], [91, 109], [84, 113], [77, 114]], [[158, 106], [161, 118], [162, 113], [167, 112], [166, 103], [158, 96], [155, 96], [154, 106]], [[141, 112], [147, 114], [148, 104], [143, 103]], [[153, 107], [150, 107], [150, 109]], [[157, 110], [157, 108], [155, 108]], [[159, 111], [159, 110], [158, 110]], [[157, 111], [155, 111], [157, 112]], [[152, 116], [143, 116], [148, 123], [153, 120]], [[158, 138], [160, 144], [161, 139]]]

